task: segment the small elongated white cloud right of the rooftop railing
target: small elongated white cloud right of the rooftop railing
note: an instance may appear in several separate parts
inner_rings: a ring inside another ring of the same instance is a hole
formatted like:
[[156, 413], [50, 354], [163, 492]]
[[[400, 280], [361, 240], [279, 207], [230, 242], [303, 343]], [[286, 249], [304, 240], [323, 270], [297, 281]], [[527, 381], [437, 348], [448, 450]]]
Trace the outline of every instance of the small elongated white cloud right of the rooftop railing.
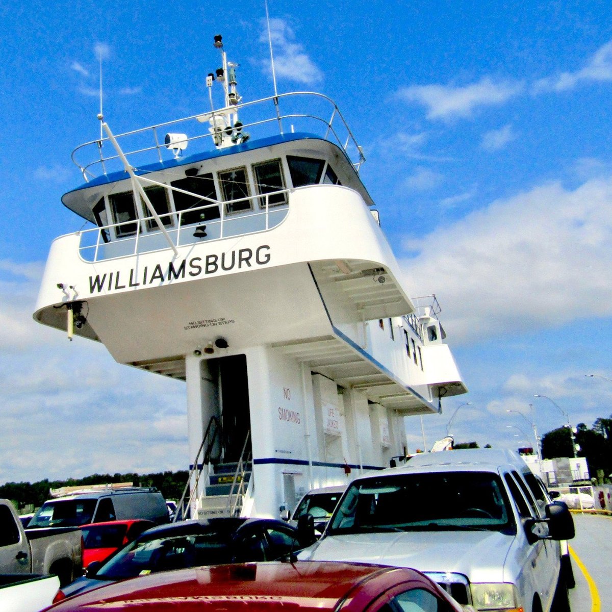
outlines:
[[471, 117], [476, 108], [499, 105], [523, 91], [522, 83], [494, 82], [487, 76], [463, 87], [415, 85], [401, 88], [398, 96], [427, 107], [428, 119]]

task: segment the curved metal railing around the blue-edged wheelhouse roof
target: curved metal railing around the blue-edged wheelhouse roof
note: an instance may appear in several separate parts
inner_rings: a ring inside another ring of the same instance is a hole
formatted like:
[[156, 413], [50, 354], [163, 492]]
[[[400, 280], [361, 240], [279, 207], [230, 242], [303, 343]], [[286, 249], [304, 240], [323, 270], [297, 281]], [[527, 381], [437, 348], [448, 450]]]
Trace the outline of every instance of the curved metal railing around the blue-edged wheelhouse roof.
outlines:
[[[291, 109], [283, 113], [280, 110], [281, 102], [283, 105], [286, 104], [289, 107], [299, 97], [308, 97], [308, 103], [316, 99], [317, 102], [321, 103], [327, 109], [327, 116], [323, 117], [323, 110], [318, 109], [315, 111], [318, 114], [292, 112]], [[268, 111], [263, 108], [265, 106], [270, 106], [270, 110]], [[329, 114], [329, 110], [331, 114]], [[132, 130], [131, 132], [124, 132], [116, 135], [115, 138], [118, 143], [121, 144], [121, 148], [130, 161], [130, 164], [138, 168], [139, 165], [144, 165], [146, 163], [163, 162], [165, 159], [176, 159], [176, 155], [166, 147], [164, 136], [162, 136], [162, 142], [160, 143], [160, 132], [166, 132], [169, 129], [184, 130], [185, 127], [191, 128], [198, 124], [207, 125], [206, 122], [214, 115], [236, 113], [237, 111], [244, 111], [247, 114], [252, 112], [254, 115], [259, 114], [259, 117], [253, 118], [253, 121], [242, 121], [241, 116], [243, 133], [245, 133], [247, 129], [258, 130], [259, 127], [267, 126], [267, 124], [277, 124], [278, 133], [280, 134], [294, 132], [295, 123], [299, 122], [298, 127], [300, 131], [304, 131], [304, 129], [315, 130], [315, 133], [317, 133], [317, 135], [320, 134], [325, 140], [338, 144], [357, 171], [359, 171], [360, 165], [365, 162], [362, 148], [357, 144], [353, 133], [349, 129], [336, 103], [324, 94], [310, 91], [288, 92], [286, 94], [278, 94], [259, 100], [253, 100], [252, 102], [244, 102], [235, 106], [219, 108], [218, 110], [209, 111], [207, 113], [198, 113], [183, 119], [176, 119], [174, 121], [167, 121], [138, 130]], [[321, 116], [319, 116], [319, 114]], [[182, 124], [187, 125], [184, 126]], [[302, 128], [302, 125], [305, 127]], [[286, 129], [287, 127], [289, 127], [289, 129]], [[199, 129], [201, 130], [201, 128]], [[270, 133], [267, 132], [265, 135], [269, 136]], [[187, 136], [183, 142], [188, 144], [194, 141], [200, 141], [205, 144], [212, 144], [210, 148], [214, 150], [214, 140], [212, 140], [214, 137], [214, 133], [198, 133], [194, 136]], [[258, 137], [261, 137], [261, 135], [258, 134]], [[78, 166], [85, 181], [89, 181], [91, 178], [95, 178], [102, 174], [108, 174], [109, 171], [124, 169], [119, 160], [119, 155], [113, 147], [110, 149], [112, 151], [111, 154], [105, 155], [105, 145], [110, 145], [109, 139], [100, 138], [99, 140], [83, 143], [72, 152], [72, 161]], [[95, 155], [92, 151], [95, 151]], [[77, 159], [78, 157], [86, 157], [89, 159], [81, 162]]]

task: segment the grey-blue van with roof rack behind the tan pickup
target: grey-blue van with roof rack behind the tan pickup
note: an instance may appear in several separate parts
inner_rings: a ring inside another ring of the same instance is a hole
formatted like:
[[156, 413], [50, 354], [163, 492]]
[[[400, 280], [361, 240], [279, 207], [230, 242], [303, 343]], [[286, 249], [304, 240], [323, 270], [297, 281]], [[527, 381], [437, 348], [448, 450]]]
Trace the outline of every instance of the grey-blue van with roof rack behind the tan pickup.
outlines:
[[155, 487], [73, 491], [46, 501], [32, 517], [28, 529], [79, 527], [133, 518], [168, 523], [170, 515], [162, 493]]

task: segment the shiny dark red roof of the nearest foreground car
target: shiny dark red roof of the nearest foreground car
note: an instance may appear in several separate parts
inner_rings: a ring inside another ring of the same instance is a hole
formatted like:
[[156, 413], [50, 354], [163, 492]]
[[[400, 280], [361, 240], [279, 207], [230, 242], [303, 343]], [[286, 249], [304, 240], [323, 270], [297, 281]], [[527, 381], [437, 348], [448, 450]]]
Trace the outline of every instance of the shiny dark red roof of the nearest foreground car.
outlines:
[[[277, 608], [280, 612], [289, 605], [299, 606], [302, 612], [321, 612], [335, 610], [345, 598], [343, 609], [363, 610], [382, 592], [409, 581], [416, 581], [414, 586], [425, 583], [432, 588], [431, 582], [416, 570], [381, 565], [299, 561], [204, 566], [113, 583], [60, 602], [54, 610], [89, 610], [100, 601], [105, 610], [123, 610], [125, 602], [136, 603], [135, 600], [141, 605], [165, 604], [159, 608], [151, 605], [151, 610], [167, 610], [172, 599], [188, 610], [192, 609], [188, 605], [192, 600], [195, 606], [212, 604], [209, 610], [223, 608], [224, 612], [242, 612], [245, 603], [257, 610], [261, 608], [258, 602], [266, 611]], [[357, 594], [358, 588], [365, 601]]]

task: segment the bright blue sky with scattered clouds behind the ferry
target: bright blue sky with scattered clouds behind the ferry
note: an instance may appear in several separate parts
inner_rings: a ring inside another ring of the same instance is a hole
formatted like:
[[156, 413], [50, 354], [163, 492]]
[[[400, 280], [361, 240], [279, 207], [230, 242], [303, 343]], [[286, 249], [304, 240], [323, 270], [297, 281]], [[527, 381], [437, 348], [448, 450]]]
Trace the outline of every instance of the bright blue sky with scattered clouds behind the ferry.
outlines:
[[[554, 403], [574, 425], [612, 413], [612, 383], [584, 376], [612, 378], [610, 5], [481, 4], [269, 0], [278, 90], [338, 103], [409, 293], [442, 305], [470, 392], [424, 417], [427, 446], [458, 406], [455, 437], [481, 446], [559, 427]], [[182, 384], [31, 314], [51, 241], [82, 225], [60, 198], [99, 133], [97, 58], [116, 133], [205, 110], [218, 33], [243, 98], [270, 95], [263, 0], [4, 0], [0, 17], [0, 483], [184, 469]]]

